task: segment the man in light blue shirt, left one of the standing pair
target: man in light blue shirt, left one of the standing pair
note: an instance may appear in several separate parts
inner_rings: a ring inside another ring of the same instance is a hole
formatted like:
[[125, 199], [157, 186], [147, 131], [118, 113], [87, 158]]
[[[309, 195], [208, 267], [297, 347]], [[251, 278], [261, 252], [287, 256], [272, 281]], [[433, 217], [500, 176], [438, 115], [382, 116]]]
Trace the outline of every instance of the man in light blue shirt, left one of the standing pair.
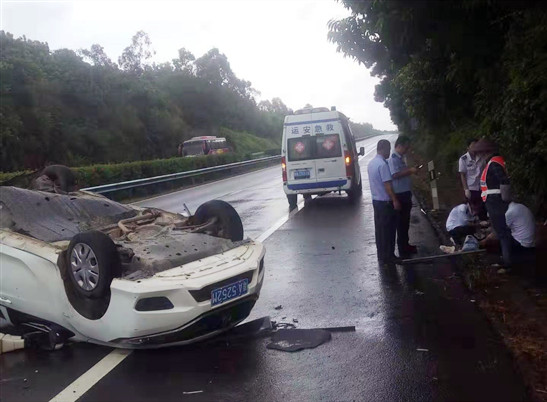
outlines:
[[394, 251], [397, 211], [401, 209], [401, 203], [393, 192], [391, 173], [387, 164], [391, 144], [387, 140], [380, 140], [376, 149], [378, 154], [369, 162], [367, 171], [374, 208], [378, 262], [384, 266], [399, 262]]

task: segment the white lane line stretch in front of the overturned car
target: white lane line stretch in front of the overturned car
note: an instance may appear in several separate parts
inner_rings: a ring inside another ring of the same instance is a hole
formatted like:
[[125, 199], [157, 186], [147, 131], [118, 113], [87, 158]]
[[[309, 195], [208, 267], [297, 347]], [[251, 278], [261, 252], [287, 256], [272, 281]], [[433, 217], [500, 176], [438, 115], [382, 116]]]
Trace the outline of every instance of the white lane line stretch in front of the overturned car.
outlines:
[[84, 374], [78, 377], [72, 384], [59, 392], [50, 402], [72, 402], [76, 401], [89, 389], [97, 384], [101, 378], [110, 373], [118, 364], [120, 364], [132, 350], [114, 349], [108, 355], [103, 357], [101, 361], [87, 370]]

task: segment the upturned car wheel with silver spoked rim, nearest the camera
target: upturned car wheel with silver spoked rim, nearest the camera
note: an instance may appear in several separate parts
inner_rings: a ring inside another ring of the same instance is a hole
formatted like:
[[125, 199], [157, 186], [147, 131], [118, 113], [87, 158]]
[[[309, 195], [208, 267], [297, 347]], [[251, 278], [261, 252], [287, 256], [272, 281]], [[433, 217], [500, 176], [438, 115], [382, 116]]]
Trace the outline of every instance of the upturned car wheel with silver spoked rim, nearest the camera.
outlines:
[[76, 234], [67, 250], [67, 275], [76, 293], [92, 299], [107, 296], [120, 273], [120, 259], [110, 237], [96, 230]]

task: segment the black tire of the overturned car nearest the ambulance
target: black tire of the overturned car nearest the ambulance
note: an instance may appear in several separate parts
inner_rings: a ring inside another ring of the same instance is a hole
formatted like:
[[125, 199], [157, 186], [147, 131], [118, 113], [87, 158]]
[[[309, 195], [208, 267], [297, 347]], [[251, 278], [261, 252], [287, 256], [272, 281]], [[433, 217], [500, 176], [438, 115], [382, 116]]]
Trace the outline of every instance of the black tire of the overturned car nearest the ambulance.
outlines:
[[243, 240], [243, 223], [237, 211], [225, 201], [212, 200], [201, 204], [194, 214], [195, 223], [202, 225], [217, 218], [212, 235], [231, 241]]

